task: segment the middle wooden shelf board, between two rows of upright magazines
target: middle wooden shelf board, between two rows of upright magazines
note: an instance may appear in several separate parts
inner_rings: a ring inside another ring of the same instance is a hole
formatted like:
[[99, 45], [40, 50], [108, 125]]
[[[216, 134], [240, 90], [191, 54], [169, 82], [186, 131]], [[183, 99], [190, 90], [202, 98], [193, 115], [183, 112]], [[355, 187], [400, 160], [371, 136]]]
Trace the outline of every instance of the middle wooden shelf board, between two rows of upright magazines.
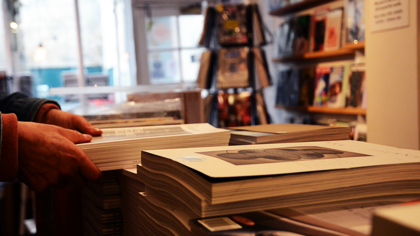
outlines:
[[273, 58], [273, 62], [292, 62], [299, 60], [311, 60], [318, 58], [327, 58], [327, 57], [337, 57], [337, 56], [346, 56], [354, 54], [354, 49], [349, 48], [340, 48], [335, 51], [317, 51], [317, 52], [306, 52], [298, 56], [290, 56], [283, 58]]

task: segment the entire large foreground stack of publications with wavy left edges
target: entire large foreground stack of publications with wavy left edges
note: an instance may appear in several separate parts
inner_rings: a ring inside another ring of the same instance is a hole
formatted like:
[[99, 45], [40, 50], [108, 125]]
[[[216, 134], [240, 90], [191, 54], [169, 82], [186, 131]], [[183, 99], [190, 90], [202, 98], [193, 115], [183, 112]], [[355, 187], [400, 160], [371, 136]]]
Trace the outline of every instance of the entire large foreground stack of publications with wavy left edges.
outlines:
[[[141, 160], [137, 175], [145, 192], [140, 194], [138, 219], [144, 235], [211, 232], [203, 225], [196, 230], [193, 219], [362, 199], [420, 198], [420, 151], [351, 140], [147, 150]], [[266, 215], [261, 214], [258, 219]], [[246, 228], [246, 222], [236, 224]], [[226, 229], [231, 228], [217, 228]], [[363, 235], [334, 229], [295, 233]]]

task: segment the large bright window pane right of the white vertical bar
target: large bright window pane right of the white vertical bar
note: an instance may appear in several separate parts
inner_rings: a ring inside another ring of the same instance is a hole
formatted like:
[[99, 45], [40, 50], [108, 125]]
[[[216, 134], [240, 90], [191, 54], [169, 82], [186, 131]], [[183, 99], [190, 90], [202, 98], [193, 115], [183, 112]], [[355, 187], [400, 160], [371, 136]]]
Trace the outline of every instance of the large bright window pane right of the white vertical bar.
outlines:
[[122, 0], [79, 0], [83, 65], [88, 74], [107, 77], [103, 85], [132, 85], [127, 7]]

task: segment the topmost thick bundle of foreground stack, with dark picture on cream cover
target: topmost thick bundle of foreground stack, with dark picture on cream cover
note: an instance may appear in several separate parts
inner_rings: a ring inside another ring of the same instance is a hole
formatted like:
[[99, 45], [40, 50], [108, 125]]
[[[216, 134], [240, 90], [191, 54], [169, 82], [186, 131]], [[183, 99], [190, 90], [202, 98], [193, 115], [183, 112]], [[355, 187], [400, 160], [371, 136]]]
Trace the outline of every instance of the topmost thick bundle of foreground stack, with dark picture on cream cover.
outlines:
[[[420, 168], [419, 155], [415, 150], [345, 140], [149, 150], [141, 153], [141, 164], [220, 204], [350, 187], [388, 195], [418, 193], [420, 180], [408, 173]], [[412, 188], [407, 183], [413, 183]], [[350, 195], [341, 189], [343, 194]]]

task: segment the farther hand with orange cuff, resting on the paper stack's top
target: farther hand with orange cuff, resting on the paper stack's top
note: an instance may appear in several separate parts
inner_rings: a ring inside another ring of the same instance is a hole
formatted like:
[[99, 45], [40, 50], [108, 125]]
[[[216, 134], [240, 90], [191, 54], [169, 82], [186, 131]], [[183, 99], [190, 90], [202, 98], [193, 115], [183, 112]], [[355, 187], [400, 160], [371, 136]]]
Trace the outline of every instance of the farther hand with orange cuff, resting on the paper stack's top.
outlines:
[[35, 118], [35, 122], [77, 130], [80, 133], [90, 134], [92, 136], [102, 134], [100, 129], [94, 127], [84, 117], [59, 109], [50, 109], [51, 106], [55, 107], [55, 105], [48, 103], [42, 105], [38, 112], [40, 116]]

